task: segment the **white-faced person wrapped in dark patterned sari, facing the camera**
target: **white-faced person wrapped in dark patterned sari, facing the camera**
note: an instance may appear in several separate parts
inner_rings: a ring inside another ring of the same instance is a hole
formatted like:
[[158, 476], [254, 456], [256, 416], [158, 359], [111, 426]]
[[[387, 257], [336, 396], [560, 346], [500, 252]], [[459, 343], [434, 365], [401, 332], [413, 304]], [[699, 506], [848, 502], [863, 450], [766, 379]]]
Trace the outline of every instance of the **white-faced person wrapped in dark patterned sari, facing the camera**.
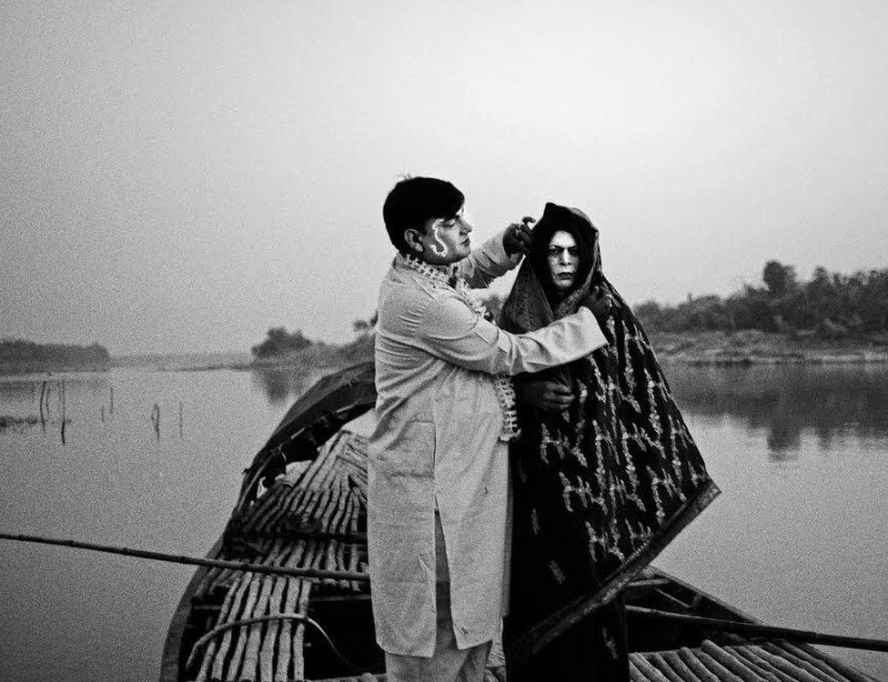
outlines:
[[628, 680], [621, 590], [719, 493], [587, 216], [546, 205], [500, 326], [546, 326], [596, 286], [613, 300], [608, 345], [516, 377], [510, 682]]

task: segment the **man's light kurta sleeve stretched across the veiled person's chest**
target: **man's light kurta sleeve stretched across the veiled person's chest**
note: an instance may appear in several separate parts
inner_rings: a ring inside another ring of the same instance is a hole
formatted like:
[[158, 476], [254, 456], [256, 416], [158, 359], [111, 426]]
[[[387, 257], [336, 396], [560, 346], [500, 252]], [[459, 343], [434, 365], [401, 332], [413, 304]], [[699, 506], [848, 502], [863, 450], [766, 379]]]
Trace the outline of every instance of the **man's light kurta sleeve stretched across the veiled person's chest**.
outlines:
[[583, 306], [550, 326], [510, 334], [449, 294], [429, 300], [416, 337], [419, 347], [449, 363], [510, 376], [573, 362], [606, 343], [595, 316]]

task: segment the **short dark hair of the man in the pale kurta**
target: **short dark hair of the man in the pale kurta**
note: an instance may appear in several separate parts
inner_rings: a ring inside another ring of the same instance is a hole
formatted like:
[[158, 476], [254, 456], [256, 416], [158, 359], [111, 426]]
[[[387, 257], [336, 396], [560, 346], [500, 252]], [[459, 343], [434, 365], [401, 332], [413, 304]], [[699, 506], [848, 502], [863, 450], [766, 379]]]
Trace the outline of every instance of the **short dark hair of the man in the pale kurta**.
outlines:
[[382, 205], [382, 219], [386, 223], [391, 243], [402, 253], [409, 252], [404, 230], [422, 231], [430, 218], [456, 216], [465, 196], [447, 180], [434, 177], [405, 177], [392, 187]]

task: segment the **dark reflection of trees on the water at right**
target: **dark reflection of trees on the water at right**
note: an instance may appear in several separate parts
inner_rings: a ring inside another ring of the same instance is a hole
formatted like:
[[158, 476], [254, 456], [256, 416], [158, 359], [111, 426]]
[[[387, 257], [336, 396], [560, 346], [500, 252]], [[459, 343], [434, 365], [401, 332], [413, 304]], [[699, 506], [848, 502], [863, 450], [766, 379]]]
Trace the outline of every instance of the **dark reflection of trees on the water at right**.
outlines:
[[766, 429], [773, 461], [793, 459], [802, 435], [822, 449], [835, 438], [888, 436], [888, 366], [752, 366], [665, 369], [679, 405]]

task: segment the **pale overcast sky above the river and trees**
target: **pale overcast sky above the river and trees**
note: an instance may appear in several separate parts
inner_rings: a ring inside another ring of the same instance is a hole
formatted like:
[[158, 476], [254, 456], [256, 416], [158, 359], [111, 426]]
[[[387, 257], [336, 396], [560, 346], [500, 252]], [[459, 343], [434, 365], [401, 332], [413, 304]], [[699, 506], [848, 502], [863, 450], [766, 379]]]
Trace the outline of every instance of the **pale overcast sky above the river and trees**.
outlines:
[[0, 4], [0, 337], [343, 341], [404, 173], [548, 201], [631, 302], [888, 266], [888, 3]]

